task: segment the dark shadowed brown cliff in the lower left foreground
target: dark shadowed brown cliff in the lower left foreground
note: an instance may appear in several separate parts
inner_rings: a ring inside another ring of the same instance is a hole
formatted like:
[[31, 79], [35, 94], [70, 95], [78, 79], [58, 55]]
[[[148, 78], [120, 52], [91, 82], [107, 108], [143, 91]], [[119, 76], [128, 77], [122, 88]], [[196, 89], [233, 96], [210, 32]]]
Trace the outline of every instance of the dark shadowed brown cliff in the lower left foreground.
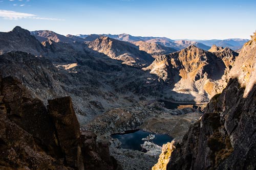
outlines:
[[120, 169], [108, 145], [80, 132], [70, 97], [47, 109], [12, 77], [0, 84], [1, 169]]

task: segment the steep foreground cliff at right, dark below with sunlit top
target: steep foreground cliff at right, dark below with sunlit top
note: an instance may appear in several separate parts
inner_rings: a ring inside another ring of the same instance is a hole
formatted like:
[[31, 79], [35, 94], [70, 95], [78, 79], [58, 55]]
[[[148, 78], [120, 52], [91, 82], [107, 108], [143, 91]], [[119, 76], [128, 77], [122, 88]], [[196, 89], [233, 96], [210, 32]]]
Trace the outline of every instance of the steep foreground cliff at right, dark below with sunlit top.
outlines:
[[256, 34], [230, 70], [229, 83], [176, 146], [167, 169], [255, 169]]

